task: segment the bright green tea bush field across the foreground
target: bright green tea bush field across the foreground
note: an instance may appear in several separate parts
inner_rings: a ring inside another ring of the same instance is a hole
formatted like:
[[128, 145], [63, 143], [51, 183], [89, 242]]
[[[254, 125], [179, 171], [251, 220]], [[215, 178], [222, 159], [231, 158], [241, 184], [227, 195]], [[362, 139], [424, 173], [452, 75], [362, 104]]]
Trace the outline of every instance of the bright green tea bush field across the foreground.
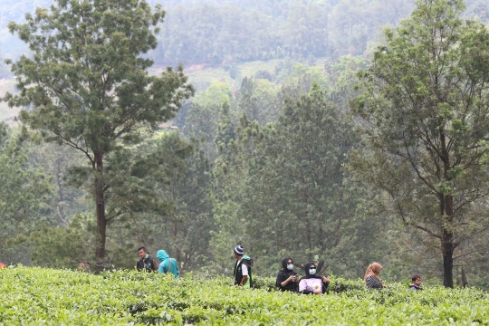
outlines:
[[243, 290], [228, 278], [178, 280], [169, 275], [93, 275], [43, 268], [0, 269], [0, 323], [5, 325], [489, 325], [489, 293], [475, 289], [423, 292], [388, 283], [364, 290], [333, 279], [323, 296]]

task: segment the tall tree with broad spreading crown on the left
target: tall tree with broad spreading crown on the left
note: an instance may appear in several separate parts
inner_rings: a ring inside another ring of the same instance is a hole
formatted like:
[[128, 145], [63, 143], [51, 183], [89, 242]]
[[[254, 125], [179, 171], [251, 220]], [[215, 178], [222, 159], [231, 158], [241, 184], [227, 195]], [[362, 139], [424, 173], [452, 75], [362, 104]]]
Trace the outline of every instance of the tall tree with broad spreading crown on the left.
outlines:
[[[133, 194], [117, 188], [127, 182], [114, 172], [127, 172], [130, 166], [120, 167], [129, 155], [121, 145], [139, 142], [146, 130], [173, 118], [181, 101], [193, 93], [182, 66], [159, 76], [148, 73], [153, 62], [142, 54], [156, 48], [155, 34], [164, 14], [160, 5], [151, 8], [144, 1], [59, 0], [50, 9], [27, 14], [24, 24], [9, 24], [34, 57], [23, 55], [10, 62], [20, 92], [6, 93], [3, 100], [10, 106], [32, 106], [34, 110], [22, 110], [21, 121], [39, 130], [44, 140], [79, 150], [90, 163], [91, 169], [73, 169], [79, 186], [90, 180], [100, 269], [107, 225], [151, 202], [126, 197], [120, 205], [117, 200]], [[138, 174], [129, 176], [135, 180]]]

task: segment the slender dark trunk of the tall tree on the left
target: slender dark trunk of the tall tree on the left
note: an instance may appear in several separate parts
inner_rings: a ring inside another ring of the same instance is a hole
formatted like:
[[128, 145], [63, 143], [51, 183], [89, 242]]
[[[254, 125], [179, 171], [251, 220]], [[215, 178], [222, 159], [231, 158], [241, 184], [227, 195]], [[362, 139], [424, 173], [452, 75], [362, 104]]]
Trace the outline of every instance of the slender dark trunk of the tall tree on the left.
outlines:
[[105, 263], [105, 242], [107, 239], [107, 219], [105, 216], [105, 181], [103, 178], [103, 154], [95, 153], [95, 205], [97, 209], [97, 226], [99, 227], [99, 246], [97, 248], [96, 271], [101, 272]]

